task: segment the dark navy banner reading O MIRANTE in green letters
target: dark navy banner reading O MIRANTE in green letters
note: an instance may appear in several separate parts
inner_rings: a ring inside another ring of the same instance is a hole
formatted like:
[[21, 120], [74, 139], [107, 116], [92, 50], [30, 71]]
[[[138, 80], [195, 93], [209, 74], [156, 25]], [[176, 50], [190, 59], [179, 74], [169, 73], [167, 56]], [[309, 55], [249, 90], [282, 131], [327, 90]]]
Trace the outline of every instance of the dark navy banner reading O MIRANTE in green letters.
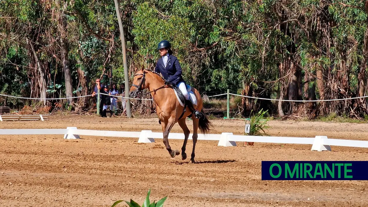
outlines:
[[262, 180], [368, 180], [368, 161], [262, 161]]

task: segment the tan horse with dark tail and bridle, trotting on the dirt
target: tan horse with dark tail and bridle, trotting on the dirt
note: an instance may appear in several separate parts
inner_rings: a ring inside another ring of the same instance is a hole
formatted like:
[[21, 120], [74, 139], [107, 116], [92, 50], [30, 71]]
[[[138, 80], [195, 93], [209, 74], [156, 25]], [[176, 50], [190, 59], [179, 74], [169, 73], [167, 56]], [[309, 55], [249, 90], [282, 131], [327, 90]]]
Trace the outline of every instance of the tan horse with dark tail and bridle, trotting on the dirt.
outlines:
[[185, 123], [185, 119], [187, 117], [192, 118], [193, 150], [190, 161], [191, 163], [195, 163], [195, 145], [198, 138], [198, 128], [203, 134], [207, 134], [210, 130], [210, 127], [212, 127], [212, 123], [210, 123], [210, 121], [208, 120], [208, 117], [202, 107], [203, 101], [199, 92], [195, 88], [191, 88], [191, 91], [194, 92], [195, 97], [197, 98], [197, 106], [193, 106], [203, 114], [200, 119], [197, 119], [188, 107], [183, 114], [184, 107], [180, 105], [173, 88], [170, 87], [168, 84], [165, 84], [164, 79], [158, 73], [142, 68], [134, 75], [134, 80], [130, 88], [129, 95], [131, 97], [136, 97], [136, 95], [142, 93], [144, 89], [149, 90], [148, 93], [151, 94], [153, 101], [156, 104], [156, 113], [159, 118], [159, 123], [162, 126], [163, 143], [172, 158], [174, 158], [176, 155], [179, 155], [180, 151], [172, 150], [170, 147], [168, 140], [170, 130], [176, 123], [179, 123], [181, 129], [183, 129], [185, 138], [183, 147], [181, 147], [181, 158], [182, 160], [187, 159], [185, 148], [187, 145], [190, 130]]

